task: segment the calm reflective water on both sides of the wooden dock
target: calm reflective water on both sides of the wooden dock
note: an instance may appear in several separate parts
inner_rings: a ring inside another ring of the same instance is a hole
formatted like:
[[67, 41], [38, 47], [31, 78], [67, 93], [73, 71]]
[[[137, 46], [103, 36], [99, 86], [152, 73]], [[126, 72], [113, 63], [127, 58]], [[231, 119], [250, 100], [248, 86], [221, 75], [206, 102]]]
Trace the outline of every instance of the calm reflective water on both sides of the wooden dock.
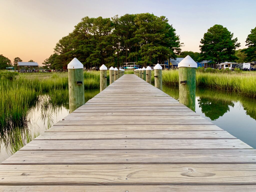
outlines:
[[[178, 100], [178, 89], [163, 87], [163, 91]], [[87, 90], [85, 100], [88, 101], [98, 93], [99, 90]], [[46, 98], [42, 95], [40, 102], [31, 108], [27, 127], [2, 135], [0, 162], [12, 155], [13, 148], [19, 143], [13, 142], [14, 136], [17, 138], [17, 135], [23, 135], [25, 138], [29, 133], [33, 139], [69, 114], [68, 103], [45, 106], [42, 102]], [[196, 113], [256, 148], [256, 99], [226, 91], [197, 89]], [[26, 139], [22, 143], [27, 143]]]

